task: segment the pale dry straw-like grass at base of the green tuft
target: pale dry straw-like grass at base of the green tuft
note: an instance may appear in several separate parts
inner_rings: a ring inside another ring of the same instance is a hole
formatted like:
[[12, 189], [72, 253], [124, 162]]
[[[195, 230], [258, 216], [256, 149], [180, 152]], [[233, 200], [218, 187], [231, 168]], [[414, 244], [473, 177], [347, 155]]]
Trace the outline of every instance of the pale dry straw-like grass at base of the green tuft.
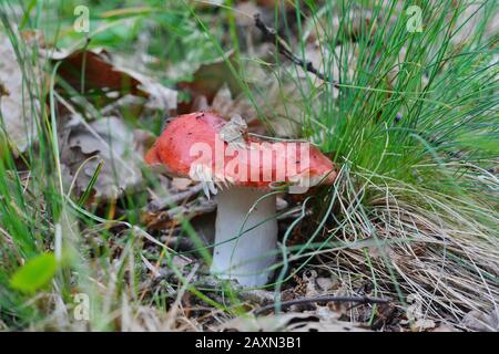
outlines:
[[[383, 183], [373, 183], [374, 177]], [[477, 183], [475, 174], [468, 177]], [[354, 187], [353, 180], [360, 183]], [[497, 187], [490, 174], [479, 180]], [[447, 195], [367, 171], [344, 175], [338, 188], [340, 225], [329, 233], [343, 246], [319, 252], [318, 268], [338, 277], [344, 291], [358, 293], [368, 282], [371, 295], [398, 300], [403, 310], [420, 305], [421, 319], [457, 325], [470, 311], [498, 311], [498, 219], [491, 209], [460, 199], [449, 202]], [[364, 194], [369, 207], [358, 202]]]

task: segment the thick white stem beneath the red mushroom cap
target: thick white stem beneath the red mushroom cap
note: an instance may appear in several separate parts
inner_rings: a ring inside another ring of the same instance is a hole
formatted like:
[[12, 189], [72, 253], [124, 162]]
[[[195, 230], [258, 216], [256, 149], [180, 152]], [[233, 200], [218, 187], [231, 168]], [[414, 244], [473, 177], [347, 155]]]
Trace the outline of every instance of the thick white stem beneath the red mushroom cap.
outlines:
[[276, 260], [276, 196], [231, 187], [216, 196], [215, 248], [211, 272], [243, 287], [265, 285]]

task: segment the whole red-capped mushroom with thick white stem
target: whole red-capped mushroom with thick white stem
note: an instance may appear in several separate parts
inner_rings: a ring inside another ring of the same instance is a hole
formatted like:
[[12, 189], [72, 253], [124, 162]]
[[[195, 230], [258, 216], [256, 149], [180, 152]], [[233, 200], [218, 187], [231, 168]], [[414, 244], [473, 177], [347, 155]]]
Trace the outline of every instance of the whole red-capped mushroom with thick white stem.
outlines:
[[166, 126], [145, 162], [163, 166], [172, 176], [210, 185], [217, 194], [211, 272], [244, 287], [259, 287], [269, 281], [277, 257], [275, 186], [305, 191], [318, 183], [333, 183], [336, 173], [308, 143], [269, 143], [245, 132], [237, 144], [224, 140], [221, 133], [231, 128], [227, 124], [208, 112], [181, 115]]

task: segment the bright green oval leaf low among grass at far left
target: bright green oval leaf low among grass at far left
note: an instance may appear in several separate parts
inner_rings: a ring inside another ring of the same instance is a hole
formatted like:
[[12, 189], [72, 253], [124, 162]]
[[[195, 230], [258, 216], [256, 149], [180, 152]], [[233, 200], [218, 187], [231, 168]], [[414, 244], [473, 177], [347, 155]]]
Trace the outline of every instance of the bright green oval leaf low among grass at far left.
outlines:
[[10, 280], [10, 285], [24, 293], [33, 293], [53, 278], [57, 268], [58, 262], [53, 253], [42, 253], [18, 269]]

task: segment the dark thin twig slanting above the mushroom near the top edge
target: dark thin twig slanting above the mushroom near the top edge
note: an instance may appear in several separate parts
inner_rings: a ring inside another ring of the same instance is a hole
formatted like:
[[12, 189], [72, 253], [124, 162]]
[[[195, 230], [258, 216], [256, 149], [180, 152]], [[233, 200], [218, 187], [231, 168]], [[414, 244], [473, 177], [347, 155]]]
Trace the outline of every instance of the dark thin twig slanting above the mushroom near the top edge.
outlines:
[[266, 42], [274, 43], [274, 45], [277, 48], [278, 52], [282, 55], [284, 55], [286, 59], [288, 59], [296, 65], [304, 67], [309, 73], [313, 73], [318, 79], [332, 83], [335, 87], [339, 87], [339, 83], [337, 81], [319, 72], [310, 61], [305, 62], [295, 54], [293, 54], [289, 46], [283, 39], [278, 37], [277, 32], [274, 29], [265, 25], [265, 23], [263, 23], [259, 13], [255, 13], [254, 19], [255, 19], [255, 27], [263, 33], [264, 40]]

